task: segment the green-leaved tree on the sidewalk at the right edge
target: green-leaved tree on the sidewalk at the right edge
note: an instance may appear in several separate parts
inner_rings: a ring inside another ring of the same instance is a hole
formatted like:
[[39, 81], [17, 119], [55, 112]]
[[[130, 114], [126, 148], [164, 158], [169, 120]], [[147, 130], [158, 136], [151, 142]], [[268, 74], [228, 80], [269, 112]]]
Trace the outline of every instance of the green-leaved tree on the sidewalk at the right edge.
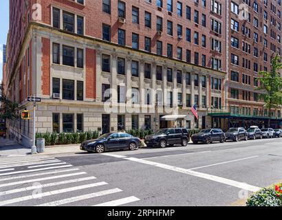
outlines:
[[282, 69], [281, 57], [276, 55], [272, 58], [271, 72], [259, 72], [261, 91], [259, 98], [265, 102], [265, 108], [268, 109], [268, 127], [272, 118], [271, 109], [278, 109], [282, 105], [282, 78], [279, 70]]

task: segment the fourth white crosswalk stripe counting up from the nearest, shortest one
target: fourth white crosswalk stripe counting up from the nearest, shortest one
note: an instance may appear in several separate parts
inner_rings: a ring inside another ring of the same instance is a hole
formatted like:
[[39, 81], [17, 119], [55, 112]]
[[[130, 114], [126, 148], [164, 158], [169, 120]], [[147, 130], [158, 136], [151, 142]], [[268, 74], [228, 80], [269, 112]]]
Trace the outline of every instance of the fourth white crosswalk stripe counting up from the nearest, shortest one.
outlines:
[[29, 187], [25, 187], [25, 188], [17, 188], [14, 190], [7, 190], [4, 192], [0, 192], [0, 196], [1, 195], [10, 195], [10, 194], [14, 194], [17, 192], [25, 192], [25, 191], [29, 191], [29, 190], [35, 190], [37, 188], [46, 188], [46, 187], [50, 187], [50, 186], [60, 186], [63, 184], [72, 184], [72, 183], [76, 183], [79, 181], [87, 181], [87, 180], [91, 180], [91, 179], [96, 179], [96, 177], [85, 177], [85, 178], [78, 178], [78, 179], [69, 179], [69, 180], [65, 180], [65, 181], [58, 181], [58, 182], [54, 182], [54, 183], [50, 183], [50, 184], [43, 184], [43, 185], [38, 185], [38, 186], [29, 186]]

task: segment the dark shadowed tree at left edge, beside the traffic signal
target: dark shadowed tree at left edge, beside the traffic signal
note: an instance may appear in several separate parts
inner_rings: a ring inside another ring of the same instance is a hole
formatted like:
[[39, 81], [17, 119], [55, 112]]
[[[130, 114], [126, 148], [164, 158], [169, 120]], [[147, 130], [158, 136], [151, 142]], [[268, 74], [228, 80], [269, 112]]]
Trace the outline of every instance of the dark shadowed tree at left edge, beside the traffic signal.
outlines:
[[19, 118], [19, 104], [17, 102], [12, 102], [7, 98], [6, 94], [3, 93], [3, 87], [4, 85], [0, 84], [0, 118], [2, 120], [16, 120]]

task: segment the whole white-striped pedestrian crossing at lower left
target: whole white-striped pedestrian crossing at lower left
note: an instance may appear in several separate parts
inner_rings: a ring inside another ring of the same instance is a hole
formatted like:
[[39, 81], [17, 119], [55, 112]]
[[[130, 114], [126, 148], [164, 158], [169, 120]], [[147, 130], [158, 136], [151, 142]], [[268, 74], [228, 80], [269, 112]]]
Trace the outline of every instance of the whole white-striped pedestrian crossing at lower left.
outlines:
[[0, 156], [0, 206], [128, 206], [140, 201], [45, 155]]

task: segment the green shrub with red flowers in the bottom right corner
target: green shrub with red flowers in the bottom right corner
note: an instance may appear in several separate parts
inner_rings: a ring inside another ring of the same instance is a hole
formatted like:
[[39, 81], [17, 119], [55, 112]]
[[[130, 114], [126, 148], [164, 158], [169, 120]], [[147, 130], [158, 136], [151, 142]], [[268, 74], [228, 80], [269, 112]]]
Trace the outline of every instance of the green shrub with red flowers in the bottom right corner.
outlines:
[[264, 188], [248, 199], [246, 206], [282, 206], [273, 188]]

